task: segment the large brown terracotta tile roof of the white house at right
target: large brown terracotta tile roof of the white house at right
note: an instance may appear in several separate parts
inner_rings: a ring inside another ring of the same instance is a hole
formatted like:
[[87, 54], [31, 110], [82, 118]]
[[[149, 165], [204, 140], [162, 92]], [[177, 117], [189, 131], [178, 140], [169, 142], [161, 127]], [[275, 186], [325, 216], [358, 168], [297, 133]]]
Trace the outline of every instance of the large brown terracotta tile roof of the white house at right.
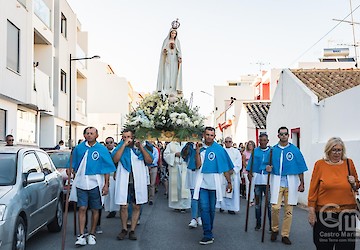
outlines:
[[319, 101], [360, 85], [359, 69], [292, 69], [291, 72]]

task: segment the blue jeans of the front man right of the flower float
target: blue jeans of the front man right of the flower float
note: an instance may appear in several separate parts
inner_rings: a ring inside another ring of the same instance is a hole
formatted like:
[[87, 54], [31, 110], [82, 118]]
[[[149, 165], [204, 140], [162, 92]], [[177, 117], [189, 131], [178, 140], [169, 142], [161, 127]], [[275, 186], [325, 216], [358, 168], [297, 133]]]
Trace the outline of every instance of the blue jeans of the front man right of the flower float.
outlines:
[[212, 229], [215, 218], [216, 190], [200, 188], [199, 202], [204, 238], [212, 239], [214, 237]]

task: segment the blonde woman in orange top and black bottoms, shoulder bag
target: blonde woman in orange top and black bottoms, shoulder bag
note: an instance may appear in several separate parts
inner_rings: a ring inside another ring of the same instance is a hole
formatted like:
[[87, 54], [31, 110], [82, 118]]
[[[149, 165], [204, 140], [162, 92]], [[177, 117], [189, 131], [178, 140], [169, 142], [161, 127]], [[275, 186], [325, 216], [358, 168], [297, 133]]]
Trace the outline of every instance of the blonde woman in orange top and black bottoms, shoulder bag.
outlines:
[[358, 175], [341, 138], [330, 138], [324, 152], [315, 163], [308, 196], [314, 244], [318, 250], [355, 249]]

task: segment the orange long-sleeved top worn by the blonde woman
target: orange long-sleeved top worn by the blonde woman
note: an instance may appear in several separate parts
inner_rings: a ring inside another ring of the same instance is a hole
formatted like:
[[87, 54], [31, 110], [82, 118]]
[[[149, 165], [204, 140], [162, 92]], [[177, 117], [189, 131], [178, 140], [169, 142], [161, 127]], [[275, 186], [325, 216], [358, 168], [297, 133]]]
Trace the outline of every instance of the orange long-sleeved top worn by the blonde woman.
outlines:
[[[359, 188], [358, 175], [351, 159], [349, 159], [349, 167], [350, 174], [355, 177], [356, 187]], [[348, 175], [346, 159], [339, 165], [318, 160], [311, 176], [308, 206], [314, 207], [316, 211], [328, 204], [337, 204], [339, 207], [328, 207], [326, 211], [356, 208], [354, 193], [347, 178]]]

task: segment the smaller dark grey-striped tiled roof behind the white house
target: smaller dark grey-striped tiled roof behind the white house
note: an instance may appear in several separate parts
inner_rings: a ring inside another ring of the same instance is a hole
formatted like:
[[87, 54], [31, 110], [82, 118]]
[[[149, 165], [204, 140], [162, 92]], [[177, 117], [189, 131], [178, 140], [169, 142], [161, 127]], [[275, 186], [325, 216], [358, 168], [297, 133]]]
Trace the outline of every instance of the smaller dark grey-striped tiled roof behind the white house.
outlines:
[[256, 128], [266, 129], [266, 116], [270, 104], [271, 102], [246, 102], [243, 104]]

